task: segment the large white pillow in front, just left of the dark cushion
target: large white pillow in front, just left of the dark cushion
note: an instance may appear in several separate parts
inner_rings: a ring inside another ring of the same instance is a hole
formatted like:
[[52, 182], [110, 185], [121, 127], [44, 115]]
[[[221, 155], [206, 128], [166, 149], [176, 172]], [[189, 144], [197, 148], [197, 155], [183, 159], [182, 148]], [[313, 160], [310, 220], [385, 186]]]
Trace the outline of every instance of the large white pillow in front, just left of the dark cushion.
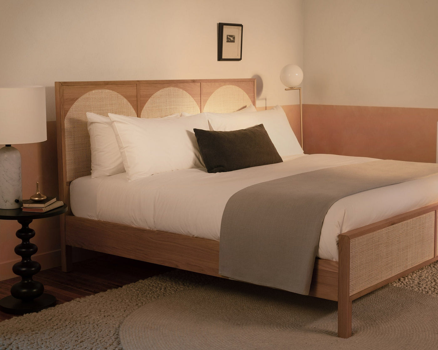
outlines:
[[109, 113], [130, 181], [173, 170], [202, 168], [193, 129], [208, 130], [205, 116], [130, 118]]

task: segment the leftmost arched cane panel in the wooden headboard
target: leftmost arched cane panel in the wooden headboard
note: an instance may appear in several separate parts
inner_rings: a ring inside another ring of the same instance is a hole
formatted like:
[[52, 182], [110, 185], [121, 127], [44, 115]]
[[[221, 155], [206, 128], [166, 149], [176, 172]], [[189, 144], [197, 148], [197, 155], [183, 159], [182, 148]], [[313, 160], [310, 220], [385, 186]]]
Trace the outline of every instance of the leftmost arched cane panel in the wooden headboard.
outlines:
[[64, 121], [67, 181], [90, 175], [91, 172], [87, 112], [102, 116], [107, 116], [109, 112], [124, 116], [137, 116], [127, 99], [112, 90], [92, 90], [78, 98], [71, 106]]

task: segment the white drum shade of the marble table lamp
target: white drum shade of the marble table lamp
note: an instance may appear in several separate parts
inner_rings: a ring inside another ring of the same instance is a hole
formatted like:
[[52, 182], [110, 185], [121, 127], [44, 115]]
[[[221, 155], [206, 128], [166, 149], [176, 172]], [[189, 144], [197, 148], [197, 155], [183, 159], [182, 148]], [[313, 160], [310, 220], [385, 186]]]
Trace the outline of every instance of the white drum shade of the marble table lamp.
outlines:
[[46, 140], [46, 89], [43, 86], [0, 88], [0, 144]]

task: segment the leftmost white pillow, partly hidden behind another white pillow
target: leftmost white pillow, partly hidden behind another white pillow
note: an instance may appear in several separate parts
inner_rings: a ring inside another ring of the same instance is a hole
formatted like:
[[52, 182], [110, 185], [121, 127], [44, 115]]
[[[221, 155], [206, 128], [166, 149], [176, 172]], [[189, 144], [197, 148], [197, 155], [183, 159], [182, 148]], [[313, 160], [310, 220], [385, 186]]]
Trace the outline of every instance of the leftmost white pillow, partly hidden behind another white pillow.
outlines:
[[110, 176], [125, 171], [111, 119], [87, 112], [91, 146], [91, 177]]

